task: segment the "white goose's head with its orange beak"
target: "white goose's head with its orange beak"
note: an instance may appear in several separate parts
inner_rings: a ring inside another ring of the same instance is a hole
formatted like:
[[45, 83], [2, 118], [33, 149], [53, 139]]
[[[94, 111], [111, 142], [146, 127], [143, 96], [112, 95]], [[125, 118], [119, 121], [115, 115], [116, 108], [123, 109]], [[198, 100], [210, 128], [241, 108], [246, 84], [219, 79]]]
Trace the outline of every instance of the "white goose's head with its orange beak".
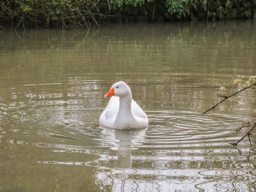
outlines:
[[130, 87], [123, 81], [119, 81], [114, 83], [108, 93], [104, 95], [104, 98], [117, 96], [117, 97], [125, 97], [127, 95], [132, 95]]

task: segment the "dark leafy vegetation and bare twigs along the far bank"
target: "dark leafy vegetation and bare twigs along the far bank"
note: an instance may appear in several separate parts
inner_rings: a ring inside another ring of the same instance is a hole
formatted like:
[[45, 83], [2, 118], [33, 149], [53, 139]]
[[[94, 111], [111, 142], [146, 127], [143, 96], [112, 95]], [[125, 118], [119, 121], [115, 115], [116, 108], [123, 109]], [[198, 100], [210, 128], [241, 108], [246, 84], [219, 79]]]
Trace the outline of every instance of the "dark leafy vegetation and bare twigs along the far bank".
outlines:
[[256, 0], [0, 0], [1, 25], [23, 27], [253, 18]]

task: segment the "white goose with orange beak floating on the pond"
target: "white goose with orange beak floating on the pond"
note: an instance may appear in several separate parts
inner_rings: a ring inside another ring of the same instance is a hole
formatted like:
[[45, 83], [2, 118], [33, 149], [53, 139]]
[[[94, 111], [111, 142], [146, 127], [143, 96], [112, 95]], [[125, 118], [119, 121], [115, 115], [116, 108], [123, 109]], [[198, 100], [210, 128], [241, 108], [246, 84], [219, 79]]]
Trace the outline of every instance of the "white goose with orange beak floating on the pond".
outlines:
[[[112, 96], [116, 97], [112, 97]], [[99, 124], [113, 129], [148, 127], [147, 115], [133, 101], [130, 87], [123, 81], [112, 85], [105, 98], [112, 97], [99, 118]]]

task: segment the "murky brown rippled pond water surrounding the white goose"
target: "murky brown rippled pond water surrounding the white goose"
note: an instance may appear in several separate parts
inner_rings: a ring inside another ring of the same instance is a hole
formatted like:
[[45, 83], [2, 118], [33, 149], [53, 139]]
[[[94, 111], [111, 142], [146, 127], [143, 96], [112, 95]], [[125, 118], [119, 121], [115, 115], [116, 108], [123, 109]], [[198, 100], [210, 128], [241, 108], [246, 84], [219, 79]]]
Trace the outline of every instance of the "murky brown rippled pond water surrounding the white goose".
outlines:
[[[256, 191], [256, 23], [109, 25], [0, 32], [0, 191]], [[124, 80], [146, 130], [99, 128]], [[116, 169], [119, 169], [117, 171]], [[120, 180], [118, 178], [125, 178]]]

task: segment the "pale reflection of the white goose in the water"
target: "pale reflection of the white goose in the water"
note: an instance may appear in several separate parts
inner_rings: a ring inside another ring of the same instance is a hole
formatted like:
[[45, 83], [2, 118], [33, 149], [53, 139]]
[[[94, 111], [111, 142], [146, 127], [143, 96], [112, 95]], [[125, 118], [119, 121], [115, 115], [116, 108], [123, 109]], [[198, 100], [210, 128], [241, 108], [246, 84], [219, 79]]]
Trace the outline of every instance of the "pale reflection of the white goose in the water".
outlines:
[[[117, 179], [125, 179], [128, 177], [127, 174], [124, 173], [125, 170], [131, 168], [132, 166], [132, 141], [143, 139], [143, 136], [147, 130], [144, 129], [110, 129], [100, 126], [104, 131], [104, 135], [106, 135], [106, 140], [117, 140], [114, 142], [118, 144], [118, 163], [117, 166], [107, 166], [108, 168], [115, 170], [115, 173], [110, 175], [111, 178]], [[113, 142], [112, 142], [113, 144]], [[138, 144], [138, 143], [137, 143]]]

